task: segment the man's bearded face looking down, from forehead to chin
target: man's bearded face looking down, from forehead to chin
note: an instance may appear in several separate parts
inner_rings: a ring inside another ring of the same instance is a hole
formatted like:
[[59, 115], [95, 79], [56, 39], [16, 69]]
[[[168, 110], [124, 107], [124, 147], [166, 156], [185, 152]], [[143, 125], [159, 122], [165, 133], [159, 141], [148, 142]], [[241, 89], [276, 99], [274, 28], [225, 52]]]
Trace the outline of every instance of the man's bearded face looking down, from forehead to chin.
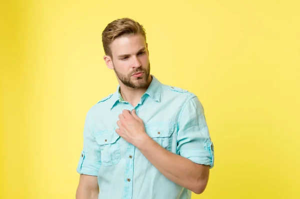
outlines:
[[141, 34], [119, 37], [110, 44], [113, 70], [121, 83], [130, 88], [148, 85], [150, 63], [147, 44]]

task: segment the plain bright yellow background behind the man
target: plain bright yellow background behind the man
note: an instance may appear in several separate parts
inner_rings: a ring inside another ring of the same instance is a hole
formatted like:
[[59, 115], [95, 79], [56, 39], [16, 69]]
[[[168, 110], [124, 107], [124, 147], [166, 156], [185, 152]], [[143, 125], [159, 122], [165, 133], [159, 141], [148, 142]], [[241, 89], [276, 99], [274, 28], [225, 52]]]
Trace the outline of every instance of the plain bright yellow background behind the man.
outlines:
[[151, 73], [195, 93], [215, 167], [193, 199], [298, 199], [299, 0], [27, 0], [0, 6], [0, 199], [74, 199], [87, 110], [115, 91], [105, 25], [144, 25]]

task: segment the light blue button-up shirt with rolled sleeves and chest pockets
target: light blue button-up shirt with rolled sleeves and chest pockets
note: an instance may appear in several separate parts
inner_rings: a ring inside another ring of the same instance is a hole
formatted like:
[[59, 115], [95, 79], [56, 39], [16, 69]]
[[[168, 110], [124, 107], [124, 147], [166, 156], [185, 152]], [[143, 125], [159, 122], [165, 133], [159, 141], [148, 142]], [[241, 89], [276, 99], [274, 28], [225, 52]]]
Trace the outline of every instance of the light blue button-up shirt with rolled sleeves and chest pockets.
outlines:
[[191, 191], [165, 178], [116, 132], [118, 115], [136, 110], [146, 133], [166, 150], [194, 163], [214, 163], [213, 144], [198, 98], [183, 89], [152, 81], [133, 107], [117, 90], [86, 114], [79, 174], [97, 176], [98, 199], [190, 199]]

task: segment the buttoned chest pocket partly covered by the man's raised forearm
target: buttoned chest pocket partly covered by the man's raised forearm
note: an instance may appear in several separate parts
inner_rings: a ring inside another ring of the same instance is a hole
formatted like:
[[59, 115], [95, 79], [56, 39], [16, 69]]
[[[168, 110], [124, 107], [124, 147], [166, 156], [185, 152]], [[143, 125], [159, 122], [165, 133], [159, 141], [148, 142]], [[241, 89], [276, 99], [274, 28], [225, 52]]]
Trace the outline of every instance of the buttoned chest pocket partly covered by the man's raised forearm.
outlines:
[[172, 147], [172, 134], [174, 132], [174, 124], [171, 123], [155, 123], [145, 126], [146, 133], [160, 146], [168, 151]]

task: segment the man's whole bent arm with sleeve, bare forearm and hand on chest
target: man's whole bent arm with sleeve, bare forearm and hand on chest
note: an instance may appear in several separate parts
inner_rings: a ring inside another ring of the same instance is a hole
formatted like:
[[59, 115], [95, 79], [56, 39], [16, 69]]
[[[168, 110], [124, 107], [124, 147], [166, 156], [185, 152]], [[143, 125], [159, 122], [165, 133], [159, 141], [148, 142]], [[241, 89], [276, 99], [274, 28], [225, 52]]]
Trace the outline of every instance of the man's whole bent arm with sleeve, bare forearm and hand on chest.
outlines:
[[[196, 96], [187, 100], [180, 111], [177, 132], [177, 154], [153, 141], [135, 114], [123, 111], [116, 132], [136, 146], [146, 159], [167, 179], [195, 194], [207, 185], [213, 167], [213, 145], [210, 141], [203, 107]], [[141, 133], [142, 132], [142, 133]]]

